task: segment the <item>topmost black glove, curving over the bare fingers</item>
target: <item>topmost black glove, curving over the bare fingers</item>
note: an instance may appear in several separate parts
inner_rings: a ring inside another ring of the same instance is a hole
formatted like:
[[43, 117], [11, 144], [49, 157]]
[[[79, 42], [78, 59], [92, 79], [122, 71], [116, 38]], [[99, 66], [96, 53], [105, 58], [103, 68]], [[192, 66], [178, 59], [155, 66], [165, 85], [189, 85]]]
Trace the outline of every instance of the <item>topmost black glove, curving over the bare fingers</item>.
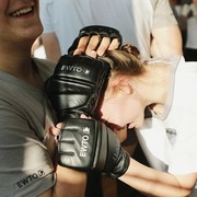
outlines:
[[111, 40], [117, 38], [119, 42], [119, 46], [121, 46], [123, 38], [119, 31], [109, 26], [91, 25], [80, 30], [79, 36], [74, 39], [74, 42], [68, 49], [68, 54], [72, 54], [78, 48], [78, 44], [81, 37], [93, 35], [99, 35], [101, 38], [109, 37]]

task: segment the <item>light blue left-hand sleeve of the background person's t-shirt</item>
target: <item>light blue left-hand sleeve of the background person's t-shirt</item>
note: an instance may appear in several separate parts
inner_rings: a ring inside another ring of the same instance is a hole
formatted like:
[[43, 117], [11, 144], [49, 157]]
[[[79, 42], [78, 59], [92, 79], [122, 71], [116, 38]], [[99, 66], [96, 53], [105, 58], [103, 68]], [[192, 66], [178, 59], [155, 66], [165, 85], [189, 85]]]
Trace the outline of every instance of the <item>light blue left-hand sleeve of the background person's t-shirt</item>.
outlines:
[[44, 33], [54, 32], [53, 25], [53, 0], [39, 1], [39, 16], [44, 27]]

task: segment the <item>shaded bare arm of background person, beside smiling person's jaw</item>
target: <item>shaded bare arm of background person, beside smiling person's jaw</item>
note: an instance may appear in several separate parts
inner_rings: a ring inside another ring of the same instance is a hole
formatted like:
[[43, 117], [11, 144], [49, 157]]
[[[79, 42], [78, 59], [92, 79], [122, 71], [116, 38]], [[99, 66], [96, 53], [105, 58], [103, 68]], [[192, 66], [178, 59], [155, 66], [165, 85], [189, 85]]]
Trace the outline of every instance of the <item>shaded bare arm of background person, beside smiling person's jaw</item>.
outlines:
[[45, 33], [42, 35], [46, 57], [57, 62], [61, 56], [58, 38], [55, 33]]

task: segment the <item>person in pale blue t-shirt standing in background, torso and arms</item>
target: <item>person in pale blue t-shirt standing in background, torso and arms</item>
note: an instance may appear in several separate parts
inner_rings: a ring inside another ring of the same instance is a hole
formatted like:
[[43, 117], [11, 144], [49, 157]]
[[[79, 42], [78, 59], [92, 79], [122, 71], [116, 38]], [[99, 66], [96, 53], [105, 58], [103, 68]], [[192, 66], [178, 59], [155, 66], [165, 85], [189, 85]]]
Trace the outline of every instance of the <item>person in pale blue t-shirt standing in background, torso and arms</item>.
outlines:
[[88, 25], [120, 30], [123, 43], [137, 46], [141, 59], [182, 55], [182, 36], [169, 0], [42, 0], [40, 19], [46, 56], [54, 61]]

